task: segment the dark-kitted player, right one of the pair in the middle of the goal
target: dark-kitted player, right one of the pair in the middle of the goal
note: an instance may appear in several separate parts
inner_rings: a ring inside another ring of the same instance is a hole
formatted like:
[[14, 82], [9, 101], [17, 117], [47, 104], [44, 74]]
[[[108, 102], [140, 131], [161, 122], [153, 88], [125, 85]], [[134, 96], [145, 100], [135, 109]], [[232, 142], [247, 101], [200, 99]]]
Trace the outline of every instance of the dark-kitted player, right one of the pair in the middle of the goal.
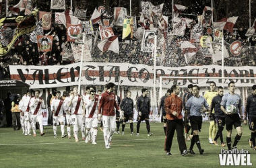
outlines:
[[148, 130], [148, 136], [153, 134], [150, 132], [150, 97], [148, 97], [148, 89], [141, 89], [142, 95], [137, 98], [137, 136], [139, 136], [139, 126], [141, 121], [145, 120]]

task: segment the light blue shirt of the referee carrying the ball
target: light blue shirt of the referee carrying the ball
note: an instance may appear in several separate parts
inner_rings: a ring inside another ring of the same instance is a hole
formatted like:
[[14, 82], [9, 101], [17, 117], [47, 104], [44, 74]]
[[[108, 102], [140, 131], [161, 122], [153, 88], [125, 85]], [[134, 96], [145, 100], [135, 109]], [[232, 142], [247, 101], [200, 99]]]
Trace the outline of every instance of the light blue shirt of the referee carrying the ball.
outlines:
[[222, 102], [220, 103], [221, 106], [223, 106], [225, 109], [229, 105], [236, 106], [236, 114], [238, 114], [239, 108], [242, 106], [242, 101], [240, 95], [234, 93], [234, 95], [231, 95], [230, 93], [226, 93], [222, 97]]

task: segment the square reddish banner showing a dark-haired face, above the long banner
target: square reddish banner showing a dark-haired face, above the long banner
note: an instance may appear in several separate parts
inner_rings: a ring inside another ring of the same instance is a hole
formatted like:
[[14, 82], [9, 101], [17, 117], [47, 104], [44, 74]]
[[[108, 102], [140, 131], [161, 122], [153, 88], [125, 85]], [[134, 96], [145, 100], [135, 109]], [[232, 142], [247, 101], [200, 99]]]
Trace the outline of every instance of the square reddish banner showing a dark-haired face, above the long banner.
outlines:
[[53, 46], [53, 36], [37, 36], [38, 52], [49, 52]]

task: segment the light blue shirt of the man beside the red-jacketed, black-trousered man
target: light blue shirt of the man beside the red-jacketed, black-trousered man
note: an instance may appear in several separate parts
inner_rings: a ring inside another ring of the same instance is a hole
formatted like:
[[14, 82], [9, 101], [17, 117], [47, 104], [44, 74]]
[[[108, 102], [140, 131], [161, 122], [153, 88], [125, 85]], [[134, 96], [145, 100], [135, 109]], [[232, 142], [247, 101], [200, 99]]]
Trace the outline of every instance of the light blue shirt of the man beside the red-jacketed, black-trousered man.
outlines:
[[209, 108], [209, 105], [206, 99], [199, 95], [199, 97], [195, 97], [194, 95], [189, 98], [186, 103], [186, 109], [190, 111], [189, 116], [202, 116], [202, 109]]

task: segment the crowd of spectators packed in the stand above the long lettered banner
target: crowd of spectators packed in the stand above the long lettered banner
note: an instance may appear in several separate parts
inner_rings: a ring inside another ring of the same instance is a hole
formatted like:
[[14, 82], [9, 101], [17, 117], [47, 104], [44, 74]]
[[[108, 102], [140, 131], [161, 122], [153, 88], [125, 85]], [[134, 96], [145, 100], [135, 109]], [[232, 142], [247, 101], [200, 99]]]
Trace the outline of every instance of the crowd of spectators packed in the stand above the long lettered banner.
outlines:
[[[119, 36], [121, 32], [117, 30]], [[119, 29], [120, 30], [120, 29]], [[241, 40], [243, 51], [241, 56], [234, 57], [232, 54], [225, 58], [224, 66], [255, 66], [256, 62], [256, 37], [247, 38], [245, 33], [247, 30], [238, 28], [237, 31], [224, 34], [224, 40], [227, 44], [231, 44], [235, 40]], [[71, 43], [67, 42], [66, 28], [62, 24], [52, 24], [51, 30], [45, 32], [44, 35], [53, 36], [53, 47], [51, 52], [38, 52], [36, 43], [30, 40], [30, 34], [26, 34], [11, 48], [8, 54], [0, 57], [0, 79], [8, 78], [9, 65], [67, 65], [75, 62]], [[189, 37], [189, 34], [186, 36]], [[92, 38], [92, 60], [96, 62], [127, 62], [131, 64], [154, 65], [154, 55], [152, 52], [141, 52], [141, 41], [131, 40], [129, 42], [121, 42], [119, 38], [119, 54], [112, 51], [101, 52], [97, 44], [100, 42], [100, 36]], [[183, 50], [178, 45], [177, 39], [168, 39], [166, 41], [166, 50], [162, 52], [162, 48], [158, 48], [158, 58], [156, 65], [165, 67], [184, 67], [187, 65], [211, 65], [213, 64], [211, 56], [205, 56], [200, 50], [189, 60], [186, 60]], [[94, 44], [95, 43], [95, 44]], [[229, 50], [229, 48], [228, 48]], [[221, 62], [217, 62], [220, 64]]]

